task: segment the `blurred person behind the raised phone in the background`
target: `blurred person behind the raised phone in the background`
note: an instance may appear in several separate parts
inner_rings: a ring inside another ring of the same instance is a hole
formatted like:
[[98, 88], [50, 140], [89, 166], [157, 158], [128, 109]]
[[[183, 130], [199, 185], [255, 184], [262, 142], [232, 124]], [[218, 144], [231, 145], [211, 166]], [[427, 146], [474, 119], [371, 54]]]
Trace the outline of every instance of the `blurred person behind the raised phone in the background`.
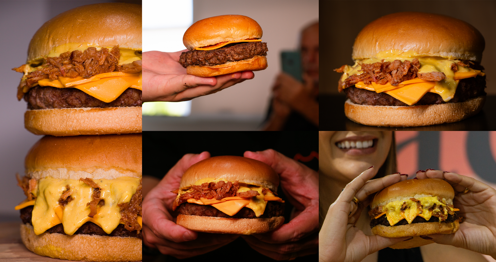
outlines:
[[318, 21], [302, 30], [300, 51], [303, 83], [277, 76], [265, 131], [318, 130]]

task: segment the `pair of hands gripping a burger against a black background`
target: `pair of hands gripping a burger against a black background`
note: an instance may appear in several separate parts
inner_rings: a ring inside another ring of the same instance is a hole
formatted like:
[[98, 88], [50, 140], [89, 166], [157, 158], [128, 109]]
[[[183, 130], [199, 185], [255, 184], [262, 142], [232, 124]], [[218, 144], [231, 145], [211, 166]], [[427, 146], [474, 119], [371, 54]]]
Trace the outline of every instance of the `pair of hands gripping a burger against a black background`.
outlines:
[[[242, 236], [250, 247], [276, 260], [317, 253], [318, 177], [307, 166], [274, 150], [245, 152], [245, 157], [270, 165], [279, 175], [281, 188], [295, 207], [292, 219], [276, 230]], [[210, 157], [208, 152], [187, 154], [172, 167], [143, 201], [143, 241], [166, 255], [188, 258], [224, 246], [239, 235], [194, 232], [177, 225], [171, 215], [181, 177], [189, 166]]]

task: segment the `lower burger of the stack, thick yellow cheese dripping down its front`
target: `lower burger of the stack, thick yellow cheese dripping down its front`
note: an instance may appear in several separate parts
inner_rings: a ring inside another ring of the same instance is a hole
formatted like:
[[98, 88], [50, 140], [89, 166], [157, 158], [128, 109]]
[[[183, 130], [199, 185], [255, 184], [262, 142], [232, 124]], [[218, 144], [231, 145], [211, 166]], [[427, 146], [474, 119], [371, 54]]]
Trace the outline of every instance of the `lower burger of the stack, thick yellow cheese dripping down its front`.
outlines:
[[76, 261], [140, 261], [141, 134], [45, 136], [18, 178], [30, 251]]

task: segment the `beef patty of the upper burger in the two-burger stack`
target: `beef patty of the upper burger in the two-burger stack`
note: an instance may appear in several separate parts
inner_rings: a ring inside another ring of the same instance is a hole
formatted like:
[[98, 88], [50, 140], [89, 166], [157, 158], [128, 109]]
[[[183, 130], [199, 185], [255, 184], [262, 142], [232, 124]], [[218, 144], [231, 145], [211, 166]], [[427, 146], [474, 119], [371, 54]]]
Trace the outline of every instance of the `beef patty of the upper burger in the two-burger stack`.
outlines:
[[105, 103], [76, 88], [36, 86], [24, 95], [28, 109], [141, 106], [141, 90], [128, 88], [116, 100]]

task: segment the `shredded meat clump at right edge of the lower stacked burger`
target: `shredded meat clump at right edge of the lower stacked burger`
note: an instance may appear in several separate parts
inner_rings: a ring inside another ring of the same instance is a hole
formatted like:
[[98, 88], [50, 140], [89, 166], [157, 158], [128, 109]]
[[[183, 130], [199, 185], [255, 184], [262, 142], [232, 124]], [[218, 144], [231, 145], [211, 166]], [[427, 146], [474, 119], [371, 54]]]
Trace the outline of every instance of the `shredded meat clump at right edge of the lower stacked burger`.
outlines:
[[139, 186], [136, 188], [136, 193], [132, 195], [131, 200], [128, 203], [120, 203], [118, 206], [121, 210], [121, 221], [124, 222], [124, 228], [133, 231], [141, 230], [141, 226], [138, 223], [138, 215], [141, 214], [141, 203], [143, 196], [141, 194], [142, 181], [139, 180]]

